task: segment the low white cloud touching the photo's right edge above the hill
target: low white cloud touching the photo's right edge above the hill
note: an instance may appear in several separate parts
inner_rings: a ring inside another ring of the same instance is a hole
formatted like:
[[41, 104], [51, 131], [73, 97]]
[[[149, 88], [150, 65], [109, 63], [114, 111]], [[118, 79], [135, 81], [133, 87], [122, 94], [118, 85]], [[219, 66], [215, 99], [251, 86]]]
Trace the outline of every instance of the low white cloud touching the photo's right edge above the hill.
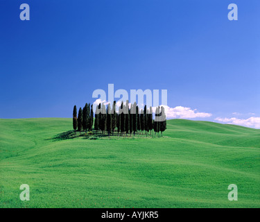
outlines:
[[234, 125], [246, 126], [251, 128], [260, 128], [260, 117], [250, 117], [248, 119], [237, 119], [236, 117], [232, 117], [232, 118], [218, 117], [215, 120], [227, 124], [234, 124]]

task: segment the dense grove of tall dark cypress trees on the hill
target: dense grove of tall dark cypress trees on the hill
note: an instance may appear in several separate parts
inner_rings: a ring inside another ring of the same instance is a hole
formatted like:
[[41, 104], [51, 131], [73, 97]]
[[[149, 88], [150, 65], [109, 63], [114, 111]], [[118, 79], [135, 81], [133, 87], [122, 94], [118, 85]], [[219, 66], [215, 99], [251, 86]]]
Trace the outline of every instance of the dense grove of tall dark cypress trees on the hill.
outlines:
[[149, 135], [149, 131], [151, 131], [150, 135], [153, 135], [153, 130], [156, 133], [162, 133], [166, 130], [166, 114], [164, 107], [158, 106], [155, 110], [155, 120], [153, 120], [153, 109], [150, 107], [147, 109], [146, 105], [144, 106], [144, 110], [139, 112], [139, 107], [137, 103], [133, 103], [130, 105], [129, 102], [126, 101], [125, 105], [123, 101], [121, 102], [121, 106], [119, 108], [119, 113], [116, 113], [116, 101], [114, 101], [113, 106], [111, 108], [110, 103], [106, 105], [104, 103], [99, 103], [96, 106], [95, 112], [95, 121], [94, 121], [94, 112], [93, 105], [90, 103], [86, 103], [83, 110], [80, 108], [78, 110], [77, 117], [77, 108], [74, 105], [73, 108], [73, 129], [78, 128], [78, 131], [81, 130], [89, 130], [92, 131], [94, 123], [94, 130], [96, 133], [98, 130], [101, 130], [102, 133], [107, 132], [108, 136], [110, 134], [114, 135], [114, 130], [117, 128], [117, 132], [121, 135], [132, 136], [132, 133], [135, 136], [135, 133], [139, 132], [144, 134], [144, 130], [146, 131], [146, 136]]

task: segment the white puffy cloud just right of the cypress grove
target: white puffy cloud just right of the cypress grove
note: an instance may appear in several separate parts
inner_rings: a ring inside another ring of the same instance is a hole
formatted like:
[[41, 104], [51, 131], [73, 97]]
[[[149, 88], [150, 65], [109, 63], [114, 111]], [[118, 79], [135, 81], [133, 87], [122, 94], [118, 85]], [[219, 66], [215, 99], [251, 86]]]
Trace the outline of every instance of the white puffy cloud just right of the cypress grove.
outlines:
[[[153, 112], [155, 112], [156, 108], [153, 108]], [[197, 112], [197, 109], [192, 110], [191, 108], [176, 106], [175, 108], [168, 107], [168, 105], [164, 105], [164, 110], [167, 118], [177, 118], [177, 119], [193, 119], [193, 118], [205, 118], [211, 117], [211, 113], [207, 112]]]

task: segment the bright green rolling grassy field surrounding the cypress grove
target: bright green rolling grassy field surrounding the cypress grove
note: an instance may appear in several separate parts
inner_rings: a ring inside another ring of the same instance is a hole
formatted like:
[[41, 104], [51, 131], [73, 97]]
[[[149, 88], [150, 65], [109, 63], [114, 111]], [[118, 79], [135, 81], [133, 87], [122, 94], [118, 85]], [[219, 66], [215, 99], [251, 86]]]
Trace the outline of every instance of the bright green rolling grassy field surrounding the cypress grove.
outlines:
[[57, 137], [71, 128], [0, 119], [0, 207], [260, 207], [260, 130], [175, 119], [159, 138]]

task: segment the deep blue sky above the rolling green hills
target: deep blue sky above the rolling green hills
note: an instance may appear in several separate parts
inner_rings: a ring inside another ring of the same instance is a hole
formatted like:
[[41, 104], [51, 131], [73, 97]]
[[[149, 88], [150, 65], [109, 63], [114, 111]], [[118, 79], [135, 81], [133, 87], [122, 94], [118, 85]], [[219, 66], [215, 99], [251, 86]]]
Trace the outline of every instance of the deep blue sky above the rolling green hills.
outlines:
[[114, 83], [168, 89], [170, 108], [211, 114], [190, 119], [260, 128], [259, 0], [0, 2], [0, 118], [71, 117]]

